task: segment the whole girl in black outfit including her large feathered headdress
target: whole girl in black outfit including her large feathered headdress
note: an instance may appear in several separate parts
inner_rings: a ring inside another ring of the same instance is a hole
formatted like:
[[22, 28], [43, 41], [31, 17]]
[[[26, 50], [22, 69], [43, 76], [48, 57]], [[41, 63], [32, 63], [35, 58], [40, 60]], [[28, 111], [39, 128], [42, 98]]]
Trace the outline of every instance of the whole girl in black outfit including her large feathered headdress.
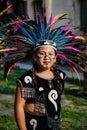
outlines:
[[79, 49], [79, 42], [72, 42], [84, 39], [72, 35], [68, 24], [54, 26], [64, 16], [50, 17], [48, 23], [42, 15], [38, 22], [18, 17], [0, 28], [0, 51], [8, 53], [0, 61], [5, 63], [5, 77], [16, 62], [26, 57], [29, 60], [34, 52], [32, 69], [17, 79], [15, 117], [19, 130], [61, 129], [60, 101], [65, 74], [58, 70], [56, 57], [66, 61], [78, 77], [76, 67], [85, 71], [87, 55]]

